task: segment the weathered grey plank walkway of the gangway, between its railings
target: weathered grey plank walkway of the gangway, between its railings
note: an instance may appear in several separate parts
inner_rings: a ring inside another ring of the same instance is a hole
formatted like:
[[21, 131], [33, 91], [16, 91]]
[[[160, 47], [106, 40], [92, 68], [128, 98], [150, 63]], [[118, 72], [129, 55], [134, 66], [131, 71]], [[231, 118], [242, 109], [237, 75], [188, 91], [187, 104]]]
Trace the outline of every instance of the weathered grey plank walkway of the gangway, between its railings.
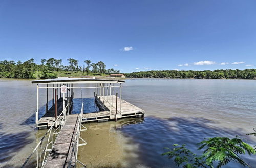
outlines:
[[78, 128], [78, 115], [69, 115], [57, 141], [47, 159], [45, 167], [66, 167], [70, 160], [75, 160], [72, 155], [72, 139]]

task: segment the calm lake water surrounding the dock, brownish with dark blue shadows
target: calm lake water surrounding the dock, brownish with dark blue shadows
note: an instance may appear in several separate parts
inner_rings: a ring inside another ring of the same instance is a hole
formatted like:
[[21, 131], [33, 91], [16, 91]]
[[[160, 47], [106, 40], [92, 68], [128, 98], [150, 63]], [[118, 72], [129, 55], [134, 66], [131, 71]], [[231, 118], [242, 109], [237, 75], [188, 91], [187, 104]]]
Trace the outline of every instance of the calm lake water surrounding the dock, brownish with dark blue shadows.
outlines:
[[[19, 167], [46, 132], [34, 129], [36, 86], [0, 79], [0, 93], [0, 167]], [[40, 93], [46, 100], [46, 92]], [[84, 111], [98, 110], [92, 93], [83, 91]], [[77, 90], [74, 113], [80, 97]], [[145, 110], [145, 117], [84, 124], [88, 130], [81, 136], [88, 144], [79, 147], [78, 157], [88, 167], [175, 167], [161, 156], [163, 148], [186, 143], [198, 153], [197, 143], [205, 137], [240, 135], [256, 145], [256, 137], [245, 136], [256, 127], [256, 80], [126, 80], [122, 98]], [[45, 103], [39, 102], [40, 115]], [[244, 158], [256, 167], [255, 156]]]

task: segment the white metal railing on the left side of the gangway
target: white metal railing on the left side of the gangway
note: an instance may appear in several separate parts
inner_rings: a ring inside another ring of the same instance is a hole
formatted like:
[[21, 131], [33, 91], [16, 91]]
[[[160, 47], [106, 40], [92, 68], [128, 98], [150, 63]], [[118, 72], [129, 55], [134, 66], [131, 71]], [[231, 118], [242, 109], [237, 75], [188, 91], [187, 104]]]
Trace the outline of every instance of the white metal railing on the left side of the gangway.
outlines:
[[[67, 106], [62, 110], [60, 115], [57, 117], [53, 125], [49, 128], [49, 130], [46, 132], [46, 134], [41, 138], [39, 143], [36, 145], [33, 152], [29, 155], [29, 157], [26, 159], [23, 167], [30, 167], [33, 164], [36, 164], [36, 167], [44, 167], [46, 164], [46, 161], [56, 143], [56, 140], [60, 134], [60, 131], [62, 130], [64, 124], [67, 121], [68, 115], [69, 115], [69, 108], [70, 103], [67, 104]], [[30, 165], [29, 164], [30, 162]]]

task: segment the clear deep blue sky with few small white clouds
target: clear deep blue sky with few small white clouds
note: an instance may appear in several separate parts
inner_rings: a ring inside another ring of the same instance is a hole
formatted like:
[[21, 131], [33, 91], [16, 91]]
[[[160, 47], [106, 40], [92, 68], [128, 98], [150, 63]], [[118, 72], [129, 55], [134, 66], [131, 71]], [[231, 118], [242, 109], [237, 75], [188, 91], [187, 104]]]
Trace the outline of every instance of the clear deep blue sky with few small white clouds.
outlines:
[[0, 60], [90, 59], [123, 73], [255, 68], [255, 7], [254, 0], [2, 0]]

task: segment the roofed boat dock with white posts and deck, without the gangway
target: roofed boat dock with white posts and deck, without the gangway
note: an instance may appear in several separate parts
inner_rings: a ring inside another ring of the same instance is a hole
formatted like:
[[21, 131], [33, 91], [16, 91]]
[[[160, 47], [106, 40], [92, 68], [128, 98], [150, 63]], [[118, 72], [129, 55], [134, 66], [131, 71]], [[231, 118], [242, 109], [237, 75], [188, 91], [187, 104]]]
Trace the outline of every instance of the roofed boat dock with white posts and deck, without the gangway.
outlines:
[[[124, 80], [115, 79], [92, 79], [92, 78], [65, 78], [65, 79], [47, 79], [34, 80], [32, 83], [37, 84], [37, 110], [35, 114], [35, 123], [38, 128], [49, 128], [53, 125], [63, 109], [66, 109], [66, 115], [72, 114], [75, 89], [94, 89], [95, 102], [100, 109], [99, 111], [84, 113], [82, 122], [89, 121], [111, 121], [124, 117], [143, 117], [144, 112], [139, 107], [122, 99], [122, 83]], [[119, 89], [118, 93], [114, 92]], [[46, 113], [39, 118], [39, 90], [45, 89]], [[52, 107], [49, 108], [49, 92], [53, 92]], [[82, 97], [81, 97], [82, 98]], [[84, 104], [87, 105], [87, 104]], [[62, 114], [63, 115], [63, 114]], [[56, 124], [56, 123], [55, 123]], [[59, 123], [57, 123], [59, 125]]]

